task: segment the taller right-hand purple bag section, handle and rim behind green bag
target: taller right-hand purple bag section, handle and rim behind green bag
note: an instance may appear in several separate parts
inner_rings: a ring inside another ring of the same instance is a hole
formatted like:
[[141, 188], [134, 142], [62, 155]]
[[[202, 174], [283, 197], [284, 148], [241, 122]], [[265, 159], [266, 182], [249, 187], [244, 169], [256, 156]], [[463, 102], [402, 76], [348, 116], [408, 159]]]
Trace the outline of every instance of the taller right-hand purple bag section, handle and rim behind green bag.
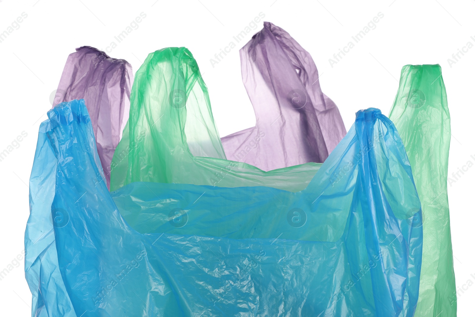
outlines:
[[269, 22], [239, 53], [256, 126], [221, 138], [227, 158], [264, 171], [322, 163], [346, 129], [310, 54]]

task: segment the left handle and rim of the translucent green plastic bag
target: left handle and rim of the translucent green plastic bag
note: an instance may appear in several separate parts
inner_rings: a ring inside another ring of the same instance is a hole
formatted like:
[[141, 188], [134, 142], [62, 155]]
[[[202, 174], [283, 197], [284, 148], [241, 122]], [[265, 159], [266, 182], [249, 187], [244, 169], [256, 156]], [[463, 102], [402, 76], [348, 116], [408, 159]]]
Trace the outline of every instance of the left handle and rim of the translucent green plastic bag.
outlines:
[[321, 166], [306, 163], [264, 172], [247, 163], [227, 161], [208, 88], [187, 48], [163, 48], [149, 54], [135, 74], [130, 98], [129, 121], [111, 164], [111, 191], [142, 181], [264, 185], [298, 192]]

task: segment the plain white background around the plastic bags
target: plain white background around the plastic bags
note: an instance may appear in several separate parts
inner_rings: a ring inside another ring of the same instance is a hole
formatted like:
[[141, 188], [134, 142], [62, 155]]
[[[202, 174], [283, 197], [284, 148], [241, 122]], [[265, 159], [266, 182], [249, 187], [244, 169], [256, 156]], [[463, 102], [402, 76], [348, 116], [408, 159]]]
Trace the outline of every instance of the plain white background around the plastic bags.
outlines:
[[[38, 127], [47, 118], [50, 94], [57, 88], [68, 54], [84, 45], [105, 50], [141, 12], [147, 17], [139, 28], [108, 54], [126, 59], [135, 72], [154, 50], [189, 48], [208, 85], [221, 136], [255, 124], [241, 81], [238, 50], [262, 28], [262, 22], [218, 65], [212, 67], [209, 59], [263, 12], [265, 21], [285, 29], [311, 53], [322, 90], [339, 107], [347, 129], [359, 109], [377, 107], [389, 114], [402, 66], [440, 64], [452, 119], [449, 175], [468, 160], [475, 162], [475, 48], [452, 67], [447, 63], [467, 41], [475, 44], [470, 38], [475, 38], [473, 0], [0, 0], [0, 32], [22, 12], [28, 18], [0, 43], [0, 152], [22, 131], [28, 133], [0, 162], [0, 271], [24, 249], [28, 179]], [[328, 59], [378, 12], [384, 18], [377, 28], [331, 67]], [[461, 289], [458, 316], [462, 317], [474, 316], [475, 310], [475, 285], [467, 284], [469, 279], [475, 283], [474, 179], [472, 167], [448, 188], [456, 284]], [[31, 314], [31, 294], [20, 262], [0, 280], [1, 316]]]

